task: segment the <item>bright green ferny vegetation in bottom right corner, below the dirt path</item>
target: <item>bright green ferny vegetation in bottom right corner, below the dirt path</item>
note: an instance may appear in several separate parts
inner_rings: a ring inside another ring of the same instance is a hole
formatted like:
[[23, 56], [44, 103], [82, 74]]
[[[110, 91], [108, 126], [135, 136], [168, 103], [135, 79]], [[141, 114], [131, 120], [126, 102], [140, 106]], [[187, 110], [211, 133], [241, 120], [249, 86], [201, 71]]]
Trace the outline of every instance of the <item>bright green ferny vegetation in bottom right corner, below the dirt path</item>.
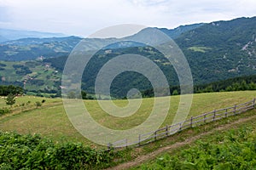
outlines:
[[238, 127], [216, 132], [134, 169], [254, 169], [255, 118]]

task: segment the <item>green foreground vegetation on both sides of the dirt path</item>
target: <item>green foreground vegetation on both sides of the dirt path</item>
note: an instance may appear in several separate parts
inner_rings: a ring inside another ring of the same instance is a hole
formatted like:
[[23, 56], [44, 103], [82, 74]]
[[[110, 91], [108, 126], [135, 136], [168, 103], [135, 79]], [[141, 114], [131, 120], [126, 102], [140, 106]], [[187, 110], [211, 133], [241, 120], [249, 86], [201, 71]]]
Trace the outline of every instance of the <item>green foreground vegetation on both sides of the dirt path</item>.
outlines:
[[[252, 118], [251, 120], [248, 119], [249, 121], [247, 122], [236, 122], [245, 117]], [[213, 164], [211, 163], [218, 165], [223, 163], [223, 167], [216, 167], [215, 169], [237, 169], [240, 165], [241, 169], [250, 169], [250, 166], [253, 167], [255, 165], [253, 161], [255, 160], [254, 143], [256, 142], [255, 121], [255, 110], [248, 111], [238, 116], [231, 116], [218, 122], [208, 123], [202, 127], [185, 130], [168, 139], [162, 139], [140, 148], [115, 151], [96, 150], [77, 143], [56, 143], [37, 134], [20, 135], [18, 133], [1, 132], [0, 168], [100, 169], [109, 166], [113, 167], [121, 162], [134, 160], [144, 154], [151, 155], [154, 150], [161, 147], [183, 142], [184, 139], [201, 134], [200, 141], [195, 142], [192, 146], [189, 144], [181, 145], [175, 150], [171, 150], [172, 152], [159, 156], [156, 161], [151, 161], [136, 168], [212, 169]], [[236, 122], [236, 124], [232, 125], [233, 122]], [[232, 126], [228, 129], [223, 128], [219, 132], [216, 127], [226, 123]], [[216, 131], [214, 130], [215, 128]], [[212, 130], [215, 131], [213, 134], [203, 134]], [[241, 155], [239, 155], [240, 152]], [[214, 156], [217, 157], [215, 158]], [[192, 161], [189, 162], [188, 160]], [[175, 167], [172, 168], [170, 166]]]

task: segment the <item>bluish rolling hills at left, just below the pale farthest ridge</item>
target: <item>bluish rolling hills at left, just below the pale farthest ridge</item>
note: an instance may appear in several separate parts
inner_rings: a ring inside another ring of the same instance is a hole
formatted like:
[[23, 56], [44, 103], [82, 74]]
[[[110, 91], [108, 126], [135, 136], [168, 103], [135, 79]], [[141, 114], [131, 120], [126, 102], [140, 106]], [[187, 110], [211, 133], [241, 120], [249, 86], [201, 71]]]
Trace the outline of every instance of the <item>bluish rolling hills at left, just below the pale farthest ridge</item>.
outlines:
[[0, 60], [21, 61], [67, 55], [81, 40], [81, 37], [51, 37], [2, 42]]

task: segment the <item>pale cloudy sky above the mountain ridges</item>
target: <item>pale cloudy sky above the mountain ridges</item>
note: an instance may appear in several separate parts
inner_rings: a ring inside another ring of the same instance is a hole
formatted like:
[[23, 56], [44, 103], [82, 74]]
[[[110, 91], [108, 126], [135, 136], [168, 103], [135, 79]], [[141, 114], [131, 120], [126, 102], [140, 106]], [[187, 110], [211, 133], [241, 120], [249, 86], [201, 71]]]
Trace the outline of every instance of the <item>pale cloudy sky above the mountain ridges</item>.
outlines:
[[256, 0], [0, 0], [0, 27], [88, 36], [104, 27], [174, 28], [256, 16]]

